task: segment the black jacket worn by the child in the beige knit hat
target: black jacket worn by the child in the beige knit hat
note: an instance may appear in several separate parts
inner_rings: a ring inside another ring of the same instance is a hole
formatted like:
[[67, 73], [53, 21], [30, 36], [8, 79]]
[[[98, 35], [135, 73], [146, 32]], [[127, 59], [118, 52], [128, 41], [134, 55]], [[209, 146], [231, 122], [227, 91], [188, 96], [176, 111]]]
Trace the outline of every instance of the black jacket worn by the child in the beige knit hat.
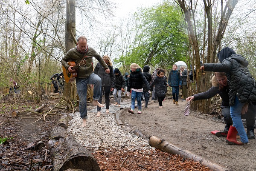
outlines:
[[143, 91], [150, 90], [150, 86], [148, 84], [147, 79], [145, 78], [145, 76], [141, 72], [141, 69], [137, 68], [136, 71], [130, 73], [130, 79], [129, 79], [129, 83], [128, 83], [128, 86], [127, 86], [127, 91], [128, 92], [131, 91], [131, 88], [134, 88], [134, 89], [143, 88], [143, 84], [146, 85], [145, 89], [143, 89]]

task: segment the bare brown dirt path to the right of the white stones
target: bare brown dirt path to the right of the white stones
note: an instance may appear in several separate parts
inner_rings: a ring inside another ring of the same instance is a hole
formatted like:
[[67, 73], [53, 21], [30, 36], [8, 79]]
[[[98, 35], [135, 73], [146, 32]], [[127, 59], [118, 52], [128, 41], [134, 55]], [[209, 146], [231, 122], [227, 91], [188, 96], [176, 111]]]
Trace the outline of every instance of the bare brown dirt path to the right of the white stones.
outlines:
[[[186, 102], [174, 105], [166, 99], [163, 108], [157, 103], [143, 107], [142, 114], [124, 111], [120, 120], [132, 129], [139, 129], [147, 137], [157, 136], [202, 158], [234, 171], [256, 171], [256, 139], [246, 145], [228, 145], [226, 137], [217, 137], [210, 132], [223, 130], [224, 123], [209, 114], [190, 110], [184, 116]], [[135, 109], [137, 111], [137, 109]]]

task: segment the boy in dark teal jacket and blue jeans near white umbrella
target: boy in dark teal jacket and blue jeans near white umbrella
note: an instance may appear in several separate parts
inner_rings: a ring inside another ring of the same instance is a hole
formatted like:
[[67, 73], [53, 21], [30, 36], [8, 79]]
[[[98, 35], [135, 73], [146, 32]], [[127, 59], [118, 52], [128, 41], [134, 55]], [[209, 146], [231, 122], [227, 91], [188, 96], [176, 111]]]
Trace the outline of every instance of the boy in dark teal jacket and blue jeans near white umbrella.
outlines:
[[170, 87], [172, 87], [172, 99], [173, 99], [173, 104], [179, 105], [179, 90], [182, 84], [182, 79], [180, 77], [180, 72], [177, 70], [178, 66], [174, 64], [172, 66], [172, 71], [169, 73], [169, 78], [168, 78], [168, 84]]

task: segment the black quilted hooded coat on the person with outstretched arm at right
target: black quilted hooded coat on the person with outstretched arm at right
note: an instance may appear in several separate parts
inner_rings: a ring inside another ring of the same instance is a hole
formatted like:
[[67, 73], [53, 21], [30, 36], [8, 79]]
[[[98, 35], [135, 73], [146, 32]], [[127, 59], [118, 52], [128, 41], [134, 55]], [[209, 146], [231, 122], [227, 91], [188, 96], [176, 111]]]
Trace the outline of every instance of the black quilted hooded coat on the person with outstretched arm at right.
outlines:
[[[240, 54], [227, 53], [230, 48], [224, 48], [223, 53], [217, 56], [224, 60], [222, 63], [205, 63], [205, 71], [226, 72], [229, 80], [230, 91], [229, 105], [234, 104], [235, 95], [238, 97], [240, 103], [255, 102], [256, 101], [256, 82], [251, 76], [247, 66], [248, 61]], [[227, 54], [223, 56], [222, 54]], [[230, 55], [230, 56], [228, 56]]]

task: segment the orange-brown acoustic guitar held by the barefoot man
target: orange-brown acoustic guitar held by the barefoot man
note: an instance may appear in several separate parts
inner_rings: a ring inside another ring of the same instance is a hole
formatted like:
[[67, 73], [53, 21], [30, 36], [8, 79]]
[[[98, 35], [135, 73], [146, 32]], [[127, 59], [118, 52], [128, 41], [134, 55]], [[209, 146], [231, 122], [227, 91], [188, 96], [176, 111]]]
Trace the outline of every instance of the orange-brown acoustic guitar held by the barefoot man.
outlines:
[[[81, 60], [80, 63], [76, 64], [74, 61], [67, 63], [69, 66], [72, 66], [73, 70], [77, 70], [79, 66], [86, 66], [86, 61]], [[76, 71], [70, 72], [68, 71], [64, 66], [62, 66], [63, 69], [63, 75], [66, 83], [72, 83], [75, 81], [75, 78], [77, 77]]]

